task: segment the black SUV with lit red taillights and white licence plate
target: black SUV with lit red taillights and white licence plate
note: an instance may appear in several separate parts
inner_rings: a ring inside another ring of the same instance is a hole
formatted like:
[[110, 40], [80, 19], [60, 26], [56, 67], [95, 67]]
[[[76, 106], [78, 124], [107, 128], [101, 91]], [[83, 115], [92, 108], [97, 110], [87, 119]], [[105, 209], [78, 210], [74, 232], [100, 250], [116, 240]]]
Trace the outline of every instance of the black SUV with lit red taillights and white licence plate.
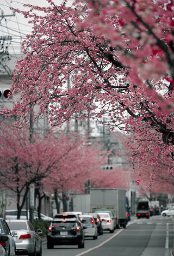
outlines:
[[84, 248], [84, 229], [76, 215], [55, 215], [47, 233], [47, 248], [54, 245], [78, 245]]

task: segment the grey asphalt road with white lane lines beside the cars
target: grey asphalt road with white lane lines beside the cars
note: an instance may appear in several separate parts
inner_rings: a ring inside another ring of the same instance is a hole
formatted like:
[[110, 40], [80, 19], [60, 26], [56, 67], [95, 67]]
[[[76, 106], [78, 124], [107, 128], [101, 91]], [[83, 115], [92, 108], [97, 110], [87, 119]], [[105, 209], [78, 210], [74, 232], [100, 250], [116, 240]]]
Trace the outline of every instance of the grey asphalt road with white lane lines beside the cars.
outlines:
[[114, 234], [105, 231], [97, 240], [85, 239], [84, 249], [77, 246], [47, 249], [45, 241], [42, 256], [170, 256], [173, 233], [172, 217], [134, 218], [126, 229], [116, 229]]

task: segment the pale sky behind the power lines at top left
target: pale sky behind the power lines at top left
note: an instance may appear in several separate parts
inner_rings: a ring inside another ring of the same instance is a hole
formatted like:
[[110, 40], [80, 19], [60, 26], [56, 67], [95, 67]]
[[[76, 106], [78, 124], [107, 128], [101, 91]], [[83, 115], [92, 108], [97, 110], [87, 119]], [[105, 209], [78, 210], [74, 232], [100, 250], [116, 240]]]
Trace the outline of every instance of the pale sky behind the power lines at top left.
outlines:
[[[54, 3], [57, 5], [61, 4], [61, 2], [61, 0], [54, 0]], [[72, 2], [73, 0], [68, 1], [69, 4]], [[25, 19], [18, 13], [15, 13], [14, 15], [13, 11], [10, 10], [10, 7], [26, 10], [22, 4], [33, 4], [42, 7], [49, 5], [47, 0], [0, 0], [0, 39], [5, 38], [5, 43], [8, 44], [9, 37], [12, 37], [11, 43], [8, 46], [8, 50], [11, 54], [18, 54], [21, 52], [21, 41], [25, 39], [26, 34], [29, 34], [32, 31], [32, 26], [28, 24], [28, 19]]]

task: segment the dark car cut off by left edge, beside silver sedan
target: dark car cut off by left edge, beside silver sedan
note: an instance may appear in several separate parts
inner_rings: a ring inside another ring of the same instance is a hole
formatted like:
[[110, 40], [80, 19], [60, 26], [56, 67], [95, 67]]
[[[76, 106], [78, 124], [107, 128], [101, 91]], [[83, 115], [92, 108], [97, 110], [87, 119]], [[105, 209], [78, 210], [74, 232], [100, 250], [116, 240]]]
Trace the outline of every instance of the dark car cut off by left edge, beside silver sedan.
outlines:
[[10, 231], [10, 228], [7, 222], [3, 218], [0, 218], [0, 245], [5, 250], [5, 253], [6, 253], [5, 256], [16, 255], [15, 253], [16, 245], [15, 245], [14, 235], [16, 235], [16, 233]]

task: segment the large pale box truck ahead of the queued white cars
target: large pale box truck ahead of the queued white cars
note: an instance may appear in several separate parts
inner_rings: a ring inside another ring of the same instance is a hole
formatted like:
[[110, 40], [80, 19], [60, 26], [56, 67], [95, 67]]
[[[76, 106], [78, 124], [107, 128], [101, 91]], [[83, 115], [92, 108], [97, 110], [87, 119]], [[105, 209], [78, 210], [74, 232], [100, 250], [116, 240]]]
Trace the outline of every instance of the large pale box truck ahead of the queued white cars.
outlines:
[[91, 191], [91, 212], [109, 210], [114, 213], [116, 227], [126, 228], [126, 189], [93, 188]]

